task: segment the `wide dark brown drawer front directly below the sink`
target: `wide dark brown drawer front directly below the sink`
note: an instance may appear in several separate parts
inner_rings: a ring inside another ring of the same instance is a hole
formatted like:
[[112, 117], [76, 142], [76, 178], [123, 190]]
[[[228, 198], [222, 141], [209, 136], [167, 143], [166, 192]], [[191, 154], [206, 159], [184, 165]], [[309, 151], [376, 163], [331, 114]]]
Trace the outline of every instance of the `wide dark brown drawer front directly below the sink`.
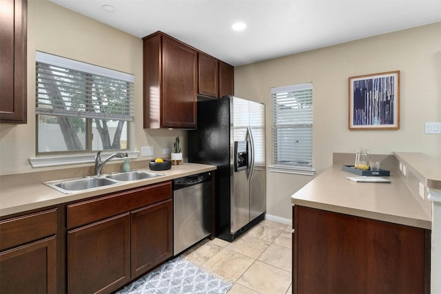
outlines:
[[172, 198], [171, 181], [70, 204], [68, 205], [68, 229], [110, 218], [169, 198]]

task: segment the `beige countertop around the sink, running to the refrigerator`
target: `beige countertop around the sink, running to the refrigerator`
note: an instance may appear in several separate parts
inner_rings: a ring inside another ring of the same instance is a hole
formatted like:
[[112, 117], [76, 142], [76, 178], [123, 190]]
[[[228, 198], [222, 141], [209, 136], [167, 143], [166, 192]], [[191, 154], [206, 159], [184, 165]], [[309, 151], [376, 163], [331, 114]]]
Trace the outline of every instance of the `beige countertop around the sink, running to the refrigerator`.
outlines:
[[[21, 185], [17, 187], [1, 188], [0, 191], [0, 216], [8, 216], [42, 207], [49, 207], [56, 204], [81, 200], [106, 193], [114, 193], [125, 189], [132, 189], [144, 185], [151, 185], [157, 182], [173, 180], [192, 174], [199, 174], [205, 171], [213, 171], [213, 165], [200, 165], [197, 163], [187, 163], [183, 165], [173, 165], [171, 169], [165, 171], [152, 171], [156, 174], [164, 174], [156, 178], [137, 180], [134, 182], [122, 182], [121, 184], [101, 187], [92, 191], [64, 194], [42, 183]], [[138, 169], [150, 171], [150, 169]]]

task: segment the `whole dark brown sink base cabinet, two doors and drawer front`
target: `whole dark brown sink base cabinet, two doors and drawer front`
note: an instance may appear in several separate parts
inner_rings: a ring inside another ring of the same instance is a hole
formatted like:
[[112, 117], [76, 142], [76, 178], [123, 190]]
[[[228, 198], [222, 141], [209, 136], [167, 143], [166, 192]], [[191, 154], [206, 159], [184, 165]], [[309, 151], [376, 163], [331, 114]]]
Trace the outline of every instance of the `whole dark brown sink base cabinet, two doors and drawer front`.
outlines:
[[112, 293], [173, 255], [172, 182], [69, 204], [68, 293]]

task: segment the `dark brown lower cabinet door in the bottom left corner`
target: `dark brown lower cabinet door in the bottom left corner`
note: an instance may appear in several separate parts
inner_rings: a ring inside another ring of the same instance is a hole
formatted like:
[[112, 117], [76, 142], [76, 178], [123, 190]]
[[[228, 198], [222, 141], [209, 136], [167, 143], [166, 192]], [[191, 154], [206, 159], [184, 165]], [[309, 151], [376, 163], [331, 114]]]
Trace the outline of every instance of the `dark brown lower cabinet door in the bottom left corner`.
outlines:
[[0, 293], [57, 293], [55, 237], [0, 253]]

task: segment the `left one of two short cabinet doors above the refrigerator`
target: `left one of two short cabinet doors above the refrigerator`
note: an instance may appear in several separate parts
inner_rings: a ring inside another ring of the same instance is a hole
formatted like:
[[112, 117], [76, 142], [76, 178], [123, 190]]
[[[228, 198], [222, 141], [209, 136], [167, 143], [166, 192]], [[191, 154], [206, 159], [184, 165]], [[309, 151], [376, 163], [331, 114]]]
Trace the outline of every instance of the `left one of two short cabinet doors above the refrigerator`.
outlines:
[[199, 53], [198, 56], [198, 94], [217, 98], [219, 96], [219, 61], [203, 53]]

